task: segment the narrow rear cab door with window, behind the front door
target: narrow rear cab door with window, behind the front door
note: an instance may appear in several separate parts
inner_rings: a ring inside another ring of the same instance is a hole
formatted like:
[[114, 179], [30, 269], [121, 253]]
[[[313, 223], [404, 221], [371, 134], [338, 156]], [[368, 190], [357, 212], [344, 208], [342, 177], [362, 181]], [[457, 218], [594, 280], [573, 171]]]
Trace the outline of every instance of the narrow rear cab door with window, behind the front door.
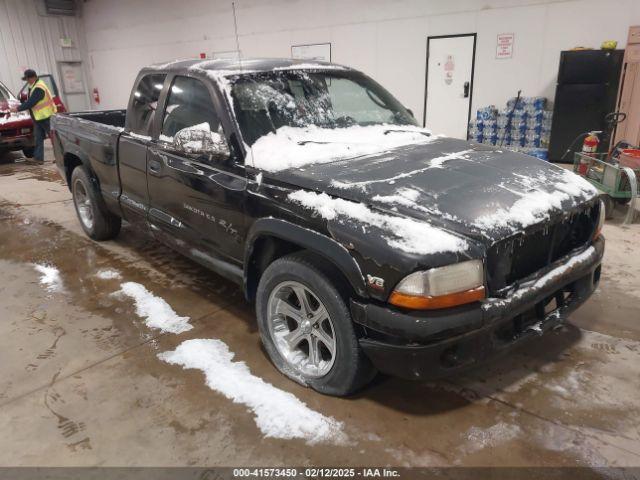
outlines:
[[165, 74], [146, 74], [138, 78], [129, 101], [125, 131], [118, 143], [120, 205], [124, 218], [148, 228], [147, 150], [164, 85]]

